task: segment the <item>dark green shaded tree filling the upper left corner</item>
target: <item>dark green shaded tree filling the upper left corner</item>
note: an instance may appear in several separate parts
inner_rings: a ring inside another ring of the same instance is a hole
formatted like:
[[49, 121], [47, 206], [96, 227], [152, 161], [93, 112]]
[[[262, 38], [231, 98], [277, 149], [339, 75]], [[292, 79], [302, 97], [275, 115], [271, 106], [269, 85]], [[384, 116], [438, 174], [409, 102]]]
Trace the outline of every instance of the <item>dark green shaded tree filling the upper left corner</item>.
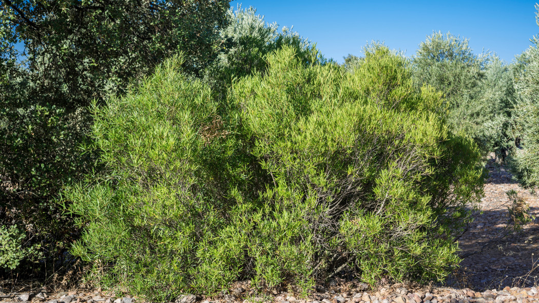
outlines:
[[20, 229], [9, 235], [65, 256], [77, 230], [54, 199], [94, 165], [78, 148], [92, 123], [86, 107], [179, 51], [183, 71], [200, 75], [228, 9], [227, 0], [0, 1], [0, 223]]

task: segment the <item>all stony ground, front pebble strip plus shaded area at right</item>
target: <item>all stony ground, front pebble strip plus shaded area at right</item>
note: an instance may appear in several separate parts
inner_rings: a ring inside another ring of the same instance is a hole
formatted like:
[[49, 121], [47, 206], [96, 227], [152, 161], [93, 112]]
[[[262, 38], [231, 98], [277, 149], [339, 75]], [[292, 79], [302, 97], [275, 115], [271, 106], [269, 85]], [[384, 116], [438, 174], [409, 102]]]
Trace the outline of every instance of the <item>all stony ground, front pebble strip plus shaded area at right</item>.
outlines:
[[[539, 218], [539, 198], [519, 187], [508, 171], [494, 161], [476, 220], [459, 239], [461, 254], [468, 256], [461, 268], [444, 285], [387, 284], [372, 290], [359, 281], [335, 279], [316, 292], [301, 298], [289, 292], [255, 297], [248, 283], [234, 285], [218, 298], [184, 295], [174, 303], [456, 303], [539, 301], [539, 219], [507, 236], [508, 190], [526, 198], [530, 214]], [[505, 237], [504, 237], [505, 235]], [[144, 303], [125, 293], [78, 288], [68, 292], [22, 287], [14, 291], [0, 288], [0, 303]]]

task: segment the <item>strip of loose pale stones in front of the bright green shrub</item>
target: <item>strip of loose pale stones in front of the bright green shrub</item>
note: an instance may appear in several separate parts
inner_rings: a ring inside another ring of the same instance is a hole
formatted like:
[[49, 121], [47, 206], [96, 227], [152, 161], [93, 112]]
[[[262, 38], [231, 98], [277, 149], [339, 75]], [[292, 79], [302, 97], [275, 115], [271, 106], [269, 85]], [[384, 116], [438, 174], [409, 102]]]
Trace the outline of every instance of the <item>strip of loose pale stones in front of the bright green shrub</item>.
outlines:
[[[357, 284], [356, 284], [357, 285]], [[308, 298], [296, 298], [292, 293], [277, 292], [272, 297], [249, 297], [247, 295], [250, 290], [245, 290], [243, 295], [238, 294], [238, 297], [234, 297], [233, 301], [226, 302], [223, 300], [225, 296], [231, 296], [230, 294], [224, 295], [214, 299], [202, 299], [197, 300], [196, 295], [187, 294], [178, 297], [174, 300], [175, 303], [539, 303], [539, 292], [536, 287], [505, 287], [502, 290], [487, 290], [483, 292], [476, 292], [469, 288], [424, 288], [422, 291], [409, 290], [398, 285], [385, 285], [385, 288], [378, 288], [369, 292], [358, 291], [357, 288], [346, 290], [343, 293], [334, 291], [324, 291], [320, 293], [313, 293]], [[39, 298], [46, 298], [47, 295], [43, 293], [37, 293], [35, 295], [27, 294], [28, 298], [22, 294], [18, 294], [11, 297], [12, 301], [18, 301], [22, 303], [39, 303]], [[139, 303], [135, 298], [123, 297], [117, 298], [115, 294], [110, 293], [75, 293], [69, 294], [63, 293], [61, 297], [59, 294], [48, 294], [49, 301], [42, 301], [44, 303]], [[23, 298], [20, 298], [23, 297]], [[26, 298], [26, 299], [25, 299]], [[107, 298], [107, 300], [105, 300]], [[229, 297], [231, 298], [231, 297]], [[19, 300], [22, 299], [22, 300]], [[24, 299], [26, 301], [24, 301]], [[8, 299], [9, 300], [9, 299]], [[211, 300], [211, 301], [210, 301]], [[144, 301], [141, 301], [144, 302]], [[2, 302], [0, 302], [2, 303]]]

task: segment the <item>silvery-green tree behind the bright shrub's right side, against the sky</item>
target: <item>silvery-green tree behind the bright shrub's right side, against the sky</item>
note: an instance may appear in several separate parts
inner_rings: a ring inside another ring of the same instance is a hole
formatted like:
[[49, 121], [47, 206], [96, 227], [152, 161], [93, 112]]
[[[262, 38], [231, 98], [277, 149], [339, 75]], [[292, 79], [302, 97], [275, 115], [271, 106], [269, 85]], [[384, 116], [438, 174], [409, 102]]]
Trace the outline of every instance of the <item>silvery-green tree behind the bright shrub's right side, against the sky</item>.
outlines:
[[485, 152], [505, 159], [515, 139], [510, 122], [517, 98], [514, 66], [474, 54], [467, 39], [439, 32], [419, 45], [413, 64], [418, 87], [429, 84], [443, 92], [455, 132], [471, 135]]

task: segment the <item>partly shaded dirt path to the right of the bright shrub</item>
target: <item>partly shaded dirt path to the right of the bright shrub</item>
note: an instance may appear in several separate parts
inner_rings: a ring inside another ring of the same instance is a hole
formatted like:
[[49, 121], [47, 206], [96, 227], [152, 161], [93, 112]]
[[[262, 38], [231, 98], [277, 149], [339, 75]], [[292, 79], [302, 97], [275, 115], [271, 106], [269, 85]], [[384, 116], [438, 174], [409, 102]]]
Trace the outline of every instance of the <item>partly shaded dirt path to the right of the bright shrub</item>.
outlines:
[[[490, 241], [487, 249], [465, 258], [461, 274], [448, 283], [474, 290], [502, 289], [506, 286], [529, 287], [539, 282], [539, 197], [531, 195], [512, 180], [503, 167], [490, 161], [485, 198], [469, 230], [459, 239], [462, 253], [473, 253]], [[527, 199], [530, 214], [536, 219], [517, 234], [499, 240], [496, 236], [508, 222], [508, 190]]]

